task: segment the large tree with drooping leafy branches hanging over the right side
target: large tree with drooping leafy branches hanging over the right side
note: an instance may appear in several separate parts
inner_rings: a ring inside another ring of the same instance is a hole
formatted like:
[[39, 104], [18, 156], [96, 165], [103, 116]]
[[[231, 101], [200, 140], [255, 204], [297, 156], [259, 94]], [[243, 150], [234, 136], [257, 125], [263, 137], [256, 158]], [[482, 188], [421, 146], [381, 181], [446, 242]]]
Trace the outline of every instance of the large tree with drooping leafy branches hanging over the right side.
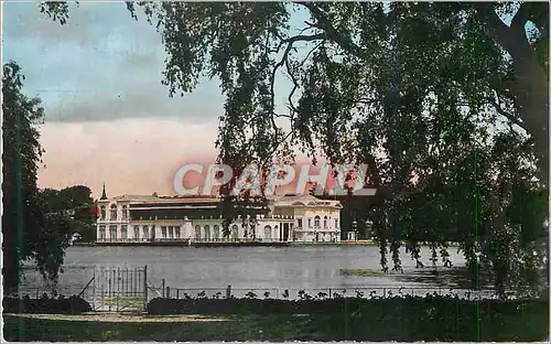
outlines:
[[[137, 18], [133, 3], [127, 6]], [[404, 236], [413, 243], [429, 237], [433, 250], [460, 238], [469, 264], [479, 268], [488, 258], [498, 279], [507, 277], [510, 262], [482, 245], [483, 234], [498, 238], [510, 232], [516, 217], [508, 213], [519, 212], [511, 205], [519, 190], [521, 197], [547, 194], [547, 3], [140, 7], [169, 54], [163, 83], [171, 96], [192, 92], [205, 75], [220, 80], [222, 163], [238, 171], [251, 162], [264, 168], [292, 160], [292, 147], [314, 162], [323, 154], [332, 163], [367, 163], [369, 184], [389, 191], [385, 202], [366, 209], [383, 269], [387, 245], [400, 269]], [[291, 20], [300, 13], [303, 28], [293, 30]], [[509, 26], [505, 17], [511, 18]], [[284, 95], [288, 114], [274, 101], [280, 74], [293, 85]], [[489, 154], [508, 132], [520, 136], [514, 141], [521, 154], [515, 157], [522, 158], [523, 174]], [[233, 203], [228, 190], [222, 193]], [[424, 212], [437, 221], [428, 224]], [[475, 217], [472, 226], [449, 225], [466, 215]], [[531, 226], [541, 233], [543, 224]]]

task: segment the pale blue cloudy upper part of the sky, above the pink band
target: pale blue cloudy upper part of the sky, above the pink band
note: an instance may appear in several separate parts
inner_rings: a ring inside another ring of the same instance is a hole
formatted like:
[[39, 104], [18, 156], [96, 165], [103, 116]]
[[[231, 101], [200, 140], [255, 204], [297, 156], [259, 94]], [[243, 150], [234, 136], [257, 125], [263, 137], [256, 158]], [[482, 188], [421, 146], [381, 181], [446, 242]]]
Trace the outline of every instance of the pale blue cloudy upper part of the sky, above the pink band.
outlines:
[[23, 90], [43, 99], [46, 121], [125, 118], [216, 119], [223, 96], [216, 80], [169, 98], [161, 84], [165, 52], [144, 19], [123, 3], [82, 3], [66, 25], [41, 14], [36, 3], [7, 3], [4, 60], [15, 60]]

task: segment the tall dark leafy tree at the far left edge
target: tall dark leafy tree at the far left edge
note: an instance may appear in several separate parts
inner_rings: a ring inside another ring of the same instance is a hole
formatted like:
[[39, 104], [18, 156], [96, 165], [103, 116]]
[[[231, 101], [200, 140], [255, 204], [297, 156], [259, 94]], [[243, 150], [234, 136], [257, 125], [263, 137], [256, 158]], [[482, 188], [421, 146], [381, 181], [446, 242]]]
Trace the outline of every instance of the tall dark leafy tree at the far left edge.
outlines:
[[18, 289], [21, 264], [34, 260], [44, 277], [55, 279], [68, 236], [65, 224], [46, 215], [43, 194], [36, 189], [42, 162], [39, 125], [44, 110], [39, 98], [21, 93], [24, 76], [14, 62], [2, 74], [2, 235], [4, 292]]

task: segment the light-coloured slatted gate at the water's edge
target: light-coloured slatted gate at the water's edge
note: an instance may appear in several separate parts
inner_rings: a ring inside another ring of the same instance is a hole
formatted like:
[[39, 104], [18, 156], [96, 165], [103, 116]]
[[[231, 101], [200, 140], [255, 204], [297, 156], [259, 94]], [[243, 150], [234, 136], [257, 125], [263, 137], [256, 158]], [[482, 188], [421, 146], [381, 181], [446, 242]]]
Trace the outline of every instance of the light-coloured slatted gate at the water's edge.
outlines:
[[148, 303], [148, 266], [94, 270], [93, 309], [143, 312]]

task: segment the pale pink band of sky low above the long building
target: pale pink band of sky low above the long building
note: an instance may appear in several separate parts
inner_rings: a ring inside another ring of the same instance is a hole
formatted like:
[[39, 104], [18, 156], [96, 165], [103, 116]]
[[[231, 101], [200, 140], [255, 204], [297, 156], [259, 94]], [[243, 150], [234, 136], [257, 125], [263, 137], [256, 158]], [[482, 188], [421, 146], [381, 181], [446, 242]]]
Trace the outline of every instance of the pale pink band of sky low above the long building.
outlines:
[[[182, 119], [46, 122], [41, 127], [46, 152], [39, 185], [87, 185], [94, 197], [100, 195], [104, 183], [108, 196], [172, 195], [174, 174], [183, 164], [215, 162], [216, 130], [217, 122], [197, 125]], [[299, 163], [310, 161], [303, 157]], [[317, 171], [312, 166], [311, 174]], [[205, 174], [188, 173], [184, 184], [196, 185]], [[298, 178], [299, 170], [285, 192], [294, 191]]]

